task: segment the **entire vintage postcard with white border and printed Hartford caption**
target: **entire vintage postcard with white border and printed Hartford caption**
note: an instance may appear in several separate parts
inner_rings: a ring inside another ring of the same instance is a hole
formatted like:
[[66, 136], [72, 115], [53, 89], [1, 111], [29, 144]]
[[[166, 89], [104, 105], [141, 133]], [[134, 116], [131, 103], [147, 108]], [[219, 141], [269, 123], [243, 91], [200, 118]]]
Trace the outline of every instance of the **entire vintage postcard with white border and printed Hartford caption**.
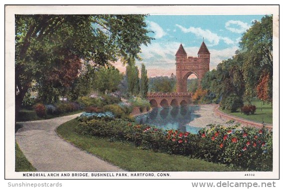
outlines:
[[279, 5], [6, 5], [5, 179], [279, 179]]

